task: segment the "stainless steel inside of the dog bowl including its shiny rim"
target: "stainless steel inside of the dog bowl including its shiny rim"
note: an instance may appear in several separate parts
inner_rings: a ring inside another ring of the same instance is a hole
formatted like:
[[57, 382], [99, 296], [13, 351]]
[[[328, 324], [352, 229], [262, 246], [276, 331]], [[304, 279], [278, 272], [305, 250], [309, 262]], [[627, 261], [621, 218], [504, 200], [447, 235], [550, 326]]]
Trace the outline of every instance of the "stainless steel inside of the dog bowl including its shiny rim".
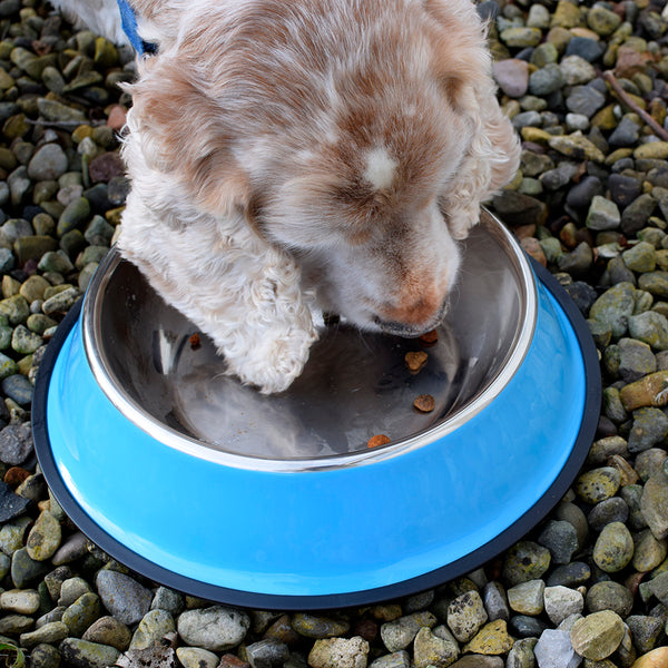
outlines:
[[[351, 465], [441, 438], [485, 407], [531, 344], [537, 295], [525, 257], [489, 213], [465, 242], [438, 343], [323, 326], [303, 375], [264, 396], [225, 374], [204, 335], [112, 250], [84, 304], [96, 381], [129, 420], [169, 446], [269, 470]], [[411, 373], [406, 352], [428, 353]], [[413, 407], [431, 394], [435, 409]], [[369, 449], [375, 434], [389, 445]]]

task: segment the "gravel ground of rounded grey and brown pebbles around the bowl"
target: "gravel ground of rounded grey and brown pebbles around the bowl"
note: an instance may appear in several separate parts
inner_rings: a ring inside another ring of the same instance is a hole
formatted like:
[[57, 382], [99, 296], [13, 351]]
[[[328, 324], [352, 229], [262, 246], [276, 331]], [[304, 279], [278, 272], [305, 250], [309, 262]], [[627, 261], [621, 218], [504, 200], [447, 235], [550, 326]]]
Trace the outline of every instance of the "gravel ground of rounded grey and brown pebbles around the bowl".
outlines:
[[554, 511], [484, 568], [354, 610], [235, 610], [146, 581], [51, 498], [30, 432], [46, 344], [127, 194], [132, 55], [0, 0], [0, 655], [8, 665], [668, 666], [668, 11], [485, 0], [522, 165], [492, 207], [588, 318], [603, 406]]

